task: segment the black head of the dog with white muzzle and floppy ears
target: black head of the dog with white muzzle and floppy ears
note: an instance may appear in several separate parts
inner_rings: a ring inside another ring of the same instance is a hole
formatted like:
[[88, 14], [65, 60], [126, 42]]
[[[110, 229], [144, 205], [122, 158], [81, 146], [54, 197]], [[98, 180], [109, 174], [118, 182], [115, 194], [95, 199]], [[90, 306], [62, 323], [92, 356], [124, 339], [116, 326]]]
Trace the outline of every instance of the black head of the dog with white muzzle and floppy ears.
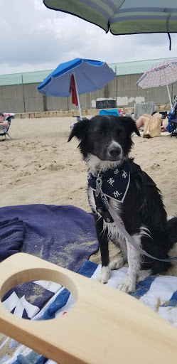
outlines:
[[[140, 136], [136, 122], [131, 117], [98, 115], [75, 123], [68, 141], [80, 140], [79, 148], [87, 161], [97, 157], [97, 165], [107, 161], [107, 166], [122, 164], [132, 148], [132, 133]], [[96, 161], [95, 159], [95, 161]]]

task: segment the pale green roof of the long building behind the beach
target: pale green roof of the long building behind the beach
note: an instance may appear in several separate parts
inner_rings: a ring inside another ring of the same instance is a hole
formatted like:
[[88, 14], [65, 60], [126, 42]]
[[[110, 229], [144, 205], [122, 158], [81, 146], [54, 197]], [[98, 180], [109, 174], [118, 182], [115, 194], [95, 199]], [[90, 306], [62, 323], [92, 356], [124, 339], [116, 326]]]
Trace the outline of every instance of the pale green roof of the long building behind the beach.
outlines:
[[[111, 63], [109, 67], [117, 72], [118, 76], [137, 75], [144, 73], [151, 68], [151, 65], [158, 63], [161, 60], [176, 59], [176, 58], [160, 58], [154, 60], [134, 60], [132, 62]], [[21, 85], [22, 83], [41, 83], [53, 70], [34, 71], [25, 73], [12, 73], [9, 75], [0, 75], [0, 86]]]

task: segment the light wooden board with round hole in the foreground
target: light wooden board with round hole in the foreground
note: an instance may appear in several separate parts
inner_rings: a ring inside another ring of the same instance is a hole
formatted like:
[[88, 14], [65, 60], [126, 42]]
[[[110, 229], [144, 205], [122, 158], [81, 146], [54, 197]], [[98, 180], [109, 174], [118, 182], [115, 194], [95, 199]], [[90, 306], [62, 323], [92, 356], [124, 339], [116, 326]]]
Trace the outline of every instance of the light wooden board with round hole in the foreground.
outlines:
[[158, 314], [128, 294], [32, 255], [18, 253], [0, 264], [1, 299], [17, 284], [38, 279], [65, 286], [75, 306], [57, 319], [28, 321], [0, 303], [2, 333], [60, 364], [176, 364], [177, 330]]

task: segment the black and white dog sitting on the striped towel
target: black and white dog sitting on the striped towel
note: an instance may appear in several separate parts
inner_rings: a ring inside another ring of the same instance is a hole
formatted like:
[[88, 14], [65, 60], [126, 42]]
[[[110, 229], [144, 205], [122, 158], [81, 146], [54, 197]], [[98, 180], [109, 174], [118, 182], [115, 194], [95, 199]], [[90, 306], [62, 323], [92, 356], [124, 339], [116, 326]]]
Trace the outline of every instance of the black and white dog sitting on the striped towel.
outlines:
[[[122, 236], [109, 211], [96, 196], [99, 176], [102, 192], [124, 228], [149, 255], [168, 259], [168, 251], [177, 241], [177, 218], [167, 220], [161, 192], [154, 181], [129, 159], [132, 133], [139, 136], [136, 123], [130, 117], [96, 116], [77, 122], [68, 141], [76, 137], [88, 166], [88, 200], [95, 215], [97, 239], [100, 243], [102, 271], [100, 282], [107, 283], [111, 269], [128, 262], [127, 276], [119, 284], [126, 292], [135, 290], [139, 282], [151, 274], [166, 272], [171, 262], [161, 262], [141, 255]], [[108, 242], [121, 248], [122, 257], [109, 262]]]

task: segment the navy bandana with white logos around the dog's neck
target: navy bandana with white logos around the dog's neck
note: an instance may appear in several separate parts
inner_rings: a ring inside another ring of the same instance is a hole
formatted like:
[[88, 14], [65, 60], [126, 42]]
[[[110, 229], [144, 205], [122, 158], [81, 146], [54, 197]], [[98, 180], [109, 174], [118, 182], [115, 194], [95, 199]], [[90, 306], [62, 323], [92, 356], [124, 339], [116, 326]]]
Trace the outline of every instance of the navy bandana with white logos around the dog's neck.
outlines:
[[[93, 176], [92, 173], [89, 173], [87, 178], [90, 187], [95, 191], [97, 177]], [[102, 179], [102, 192], [104, 195], [114, 198], [114, 200], [119, 202], [123, 202], [129, 189], [129, 161], [124, 162], [124, 164], [114, 169], [109, 168], [106, 172], [102, 173], [102, 175], [99, 175], [99, 178]]]

